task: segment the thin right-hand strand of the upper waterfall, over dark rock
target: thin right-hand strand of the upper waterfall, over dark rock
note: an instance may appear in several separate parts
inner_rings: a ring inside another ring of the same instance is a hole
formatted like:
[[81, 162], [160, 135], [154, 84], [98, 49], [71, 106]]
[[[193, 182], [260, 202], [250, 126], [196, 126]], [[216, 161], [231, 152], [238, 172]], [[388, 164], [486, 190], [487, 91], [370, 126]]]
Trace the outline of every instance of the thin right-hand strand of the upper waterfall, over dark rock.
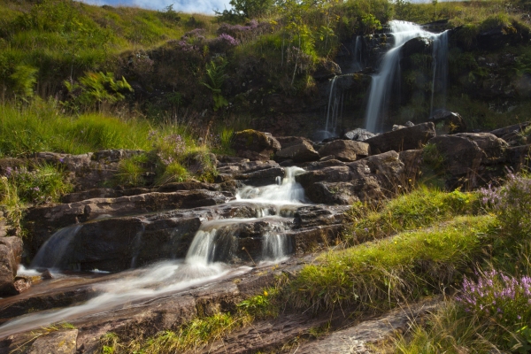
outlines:
[[[430, 118], [434, 116], [434, 109], [446, 108], [446, 89], [448, 84], [448, 31], [437, 35], [434, 39], [432, 96], [429, 109]], [[438, 106], [435, 106], [435, 91], [438, 92]]]

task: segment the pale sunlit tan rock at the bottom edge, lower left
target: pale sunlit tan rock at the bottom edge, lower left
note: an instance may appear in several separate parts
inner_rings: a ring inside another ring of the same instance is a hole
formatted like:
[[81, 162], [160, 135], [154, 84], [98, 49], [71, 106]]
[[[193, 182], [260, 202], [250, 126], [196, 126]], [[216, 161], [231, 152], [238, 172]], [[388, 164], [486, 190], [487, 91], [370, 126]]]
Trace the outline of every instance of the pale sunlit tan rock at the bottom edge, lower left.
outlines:
[[27, 354], [76, 354], [77, 329], [59, 330], [39, 336]]

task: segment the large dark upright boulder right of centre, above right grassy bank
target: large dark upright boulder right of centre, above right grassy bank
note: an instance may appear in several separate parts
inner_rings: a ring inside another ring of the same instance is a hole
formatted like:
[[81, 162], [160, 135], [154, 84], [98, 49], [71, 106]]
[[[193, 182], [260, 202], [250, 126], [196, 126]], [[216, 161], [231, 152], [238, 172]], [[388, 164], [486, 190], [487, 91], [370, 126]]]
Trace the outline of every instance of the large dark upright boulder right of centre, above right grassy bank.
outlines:
[[448, 173], [447, 189], [474, 188], [477, 173], [483, 158], [483, 150], [476, 142], [465, 136], [441, 135], [430, 139], [443, 158], [444, 171]]

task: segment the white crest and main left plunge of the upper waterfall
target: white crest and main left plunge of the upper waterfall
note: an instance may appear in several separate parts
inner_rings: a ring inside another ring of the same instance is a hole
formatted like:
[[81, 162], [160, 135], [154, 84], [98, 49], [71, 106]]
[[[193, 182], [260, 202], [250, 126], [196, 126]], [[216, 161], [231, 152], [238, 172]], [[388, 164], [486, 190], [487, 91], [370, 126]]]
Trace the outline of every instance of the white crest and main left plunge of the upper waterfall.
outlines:
[[[386, 113], [386, 102], [389, 96], [393, 94], [392, 84], [399, 69], [400, 49], [404, 43], [417, 37], [427, 37], [436, 41], [441, 35], [427, 32], [412, 22], [392, 20], [389, 21], [389, 27], [391, 27], [391, 33], [395, 38], [395, 44], [383, 57], [380, 71], [373, 75], [367, 104], [366, 129], [373, 133], [382, 129], [381, 123], [383, 115]], [[448, 41], [446, 41], [446, 45], [448, 45]], [[439, 50], [439, 52], [445, 51]], [[439, 59], [439, 61], [443, 62], [443, 59]]]

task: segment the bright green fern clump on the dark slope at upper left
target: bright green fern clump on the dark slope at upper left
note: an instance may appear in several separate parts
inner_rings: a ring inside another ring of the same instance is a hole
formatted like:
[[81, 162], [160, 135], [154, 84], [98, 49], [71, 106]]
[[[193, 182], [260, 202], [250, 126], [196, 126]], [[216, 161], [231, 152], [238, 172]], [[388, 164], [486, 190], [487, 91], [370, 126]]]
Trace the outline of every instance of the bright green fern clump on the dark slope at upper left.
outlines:
[[65, 81], [65, 87], [72, 96], [72, 102], [66, 103], [66, 106], [92, 108], [97, 105], [100, 110], [103, 104], [116, 104], [123, 100], [125, 96], [122, 92], [133, 91], [123, 76], [115, 81], [112, 73], [102, 72], [87, 73], [81, 77], [79, 84]]

